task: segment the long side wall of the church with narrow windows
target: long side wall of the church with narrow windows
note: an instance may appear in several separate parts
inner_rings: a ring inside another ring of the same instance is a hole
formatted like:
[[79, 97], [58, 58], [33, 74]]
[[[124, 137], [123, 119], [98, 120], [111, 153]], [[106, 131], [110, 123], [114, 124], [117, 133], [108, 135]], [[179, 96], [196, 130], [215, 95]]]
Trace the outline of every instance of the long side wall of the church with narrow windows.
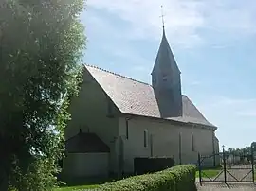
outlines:
[[[181, 149], [182, 164], [196, 164], [198, 152], [201, 154], [213, 153], [212, 130], [202, 128], [182, 127], [172, 125], [170, 122], [145, 117], [134, 117], [128, 122], [129, 137], [126, 138], [125, 118], [119, 118], [119, 135], [124, 137], [124, 171], [133, 172], [135, 157], [166, 156], [174, 157], [179, 164], [179, 149]], [[148, 131], [148, 147], [144, 147], [143, 134]], [[181, 148], [179, 148], [179, 134], [181, 135]], [[151, 148], [150, 135], [153, 143]], [[192, 135], [194, 150], [192, 150]]]

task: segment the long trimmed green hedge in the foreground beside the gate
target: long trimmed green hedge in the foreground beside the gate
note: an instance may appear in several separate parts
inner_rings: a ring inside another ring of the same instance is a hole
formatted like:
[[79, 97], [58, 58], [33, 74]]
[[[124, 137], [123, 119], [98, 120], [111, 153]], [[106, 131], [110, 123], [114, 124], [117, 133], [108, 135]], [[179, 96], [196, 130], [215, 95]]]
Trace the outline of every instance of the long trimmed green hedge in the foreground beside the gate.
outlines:
[[99, 191], [193, 191], [195, 187], [194, 165], [177, 165], [153, 174], [144, 174], [117, 182], [102, 184]]

